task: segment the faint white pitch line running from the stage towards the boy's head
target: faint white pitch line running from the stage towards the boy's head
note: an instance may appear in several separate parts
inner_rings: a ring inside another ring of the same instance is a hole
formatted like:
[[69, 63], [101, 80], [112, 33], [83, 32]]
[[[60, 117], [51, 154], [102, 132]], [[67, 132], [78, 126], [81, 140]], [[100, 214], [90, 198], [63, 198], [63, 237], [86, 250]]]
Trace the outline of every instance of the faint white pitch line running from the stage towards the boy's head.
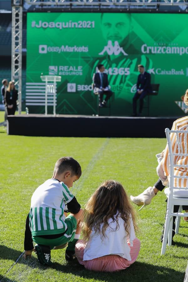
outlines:
[[91, 173], [91, 170], [94, 168], [94, 165], [96, 163], [96, 161], [98, 160], [99, 156], [101, 155], [101, 153], [103, 152], [103, 150], [105, 149], [105, 147], [107, 146], [107, 144], [109, 143], [110, 138], [106, 138], [104, 143], [102, 144], [102, 146], [98, 149], [97, 153], [93, 156], [93, 158], [91, 159], [91, 161], [89, 162], [89, 164], [87, 165], [86, 169], [83, 171], [83, 176], [81, 177], [81, 180], [79, 180], [79, 184], [75, 185], [71, 190], [75, 191], [76, 190], [80, 190], [82, 185], [84, 184], [85, 180], [88, 179], [88, 176]]

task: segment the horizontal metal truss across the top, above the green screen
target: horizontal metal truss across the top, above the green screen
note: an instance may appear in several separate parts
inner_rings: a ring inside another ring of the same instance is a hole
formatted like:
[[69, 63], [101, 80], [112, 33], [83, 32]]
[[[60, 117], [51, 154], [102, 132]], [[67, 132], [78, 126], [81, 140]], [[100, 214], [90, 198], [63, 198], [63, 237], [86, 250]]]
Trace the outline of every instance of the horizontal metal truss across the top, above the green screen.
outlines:
[[[100, 6], [107, 7], [112, 5], [117, 6], [179, 6], [188, 5], [187, 0], [25, 0], [30, 5], [44, 6]], [[89, 8], [89, 7], [88, 7]]]

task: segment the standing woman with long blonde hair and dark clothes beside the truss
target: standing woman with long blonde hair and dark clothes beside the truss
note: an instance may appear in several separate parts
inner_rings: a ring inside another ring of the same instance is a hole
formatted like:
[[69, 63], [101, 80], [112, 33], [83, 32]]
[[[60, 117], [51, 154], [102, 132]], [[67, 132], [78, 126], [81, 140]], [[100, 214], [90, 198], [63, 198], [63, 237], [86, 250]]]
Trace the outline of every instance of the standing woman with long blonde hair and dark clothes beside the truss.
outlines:
[[14, 115], [16, 111], [16, 101], [18, 100], [18, 90], [15, 89], [13, 81], [9, 82], [4, 99], [7, 114]]

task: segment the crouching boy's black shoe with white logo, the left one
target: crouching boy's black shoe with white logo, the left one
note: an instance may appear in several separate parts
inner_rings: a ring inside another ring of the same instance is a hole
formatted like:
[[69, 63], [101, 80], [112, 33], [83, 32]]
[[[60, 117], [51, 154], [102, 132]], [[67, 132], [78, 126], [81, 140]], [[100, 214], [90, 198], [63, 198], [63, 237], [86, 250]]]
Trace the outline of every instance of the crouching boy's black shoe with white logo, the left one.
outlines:
[[39, 245], [39, 244], [36, 244], [35, 247], [34, 247], [35, 251], [36, 251], [36, 254], [37, 254], [37, 257], [39, 259], [39, 262], [42, 264], [42, 265], [52, 265], [52, 262], [51, 262], [51, 251], [50, 251], [50, 247], [49, 246], [44, 246], [44, 245]]

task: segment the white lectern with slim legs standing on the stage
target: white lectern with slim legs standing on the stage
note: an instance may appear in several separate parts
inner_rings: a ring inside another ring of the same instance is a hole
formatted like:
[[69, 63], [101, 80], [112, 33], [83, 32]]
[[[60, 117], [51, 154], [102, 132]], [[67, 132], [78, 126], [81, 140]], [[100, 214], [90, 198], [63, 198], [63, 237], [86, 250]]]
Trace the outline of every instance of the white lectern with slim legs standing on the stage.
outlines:
[[[53, 104], [54, 104], [54, 116], [56, 115], [55, 113], [55, 90], [56, 90], [56, 82], [61, 81], [61, 76], [40, 76], [42, 81], [46, 82], [46, 88], [45, 88], [45, 115], [47, 115], [47, 104], [48, 104], [48, 93], [53, 93]], [[52, 82], [49, 84], [49, 82]]]

